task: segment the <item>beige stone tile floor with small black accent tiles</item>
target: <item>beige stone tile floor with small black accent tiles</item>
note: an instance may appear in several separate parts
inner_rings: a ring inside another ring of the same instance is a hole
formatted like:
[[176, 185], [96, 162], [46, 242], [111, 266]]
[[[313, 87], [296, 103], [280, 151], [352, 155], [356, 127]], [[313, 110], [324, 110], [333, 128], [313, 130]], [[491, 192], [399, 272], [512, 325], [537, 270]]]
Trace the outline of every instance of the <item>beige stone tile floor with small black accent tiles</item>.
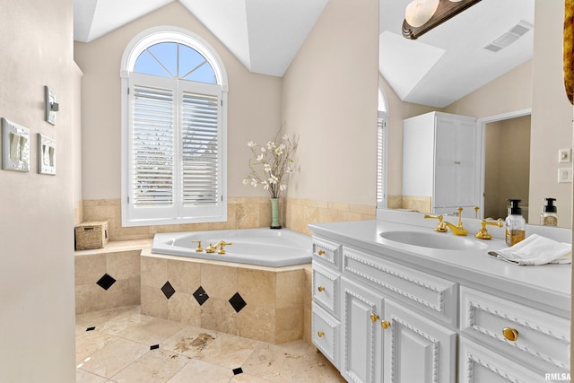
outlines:
[[265, 344], [140, 314], [140, 307], [76, 316], [77, 383], [344, 382], [303, 341]]

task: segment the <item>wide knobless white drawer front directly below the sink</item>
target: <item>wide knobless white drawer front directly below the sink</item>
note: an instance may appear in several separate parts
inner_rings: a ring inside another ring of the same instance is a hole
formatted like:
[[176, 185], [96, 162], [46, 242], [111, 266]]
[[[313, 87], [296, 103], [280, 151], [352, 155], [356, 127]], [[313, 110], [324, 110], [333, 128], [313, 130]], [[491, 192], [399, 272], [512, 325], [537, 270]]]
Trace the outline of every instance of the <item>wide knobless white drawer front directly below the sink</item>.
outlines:
[[457, 326], [457, 283], [346, 247], [343, 274], [442, 323]]

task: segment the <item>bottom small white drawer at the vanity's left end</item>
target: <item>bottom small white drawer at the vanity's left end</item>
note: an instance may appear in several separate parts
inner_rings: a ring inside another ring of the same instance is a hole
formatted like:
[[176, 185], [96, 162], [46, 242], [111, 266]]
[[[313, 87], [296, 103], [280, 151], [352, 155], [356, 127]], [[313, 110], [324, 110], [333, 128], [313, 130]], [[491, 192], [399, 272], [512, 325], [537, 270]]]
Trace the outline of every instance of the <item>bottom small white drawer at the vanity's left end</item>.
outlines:
[[326, 358], [339, 367], [339, 321], [313, 302], [312, 339], [313, 344]]

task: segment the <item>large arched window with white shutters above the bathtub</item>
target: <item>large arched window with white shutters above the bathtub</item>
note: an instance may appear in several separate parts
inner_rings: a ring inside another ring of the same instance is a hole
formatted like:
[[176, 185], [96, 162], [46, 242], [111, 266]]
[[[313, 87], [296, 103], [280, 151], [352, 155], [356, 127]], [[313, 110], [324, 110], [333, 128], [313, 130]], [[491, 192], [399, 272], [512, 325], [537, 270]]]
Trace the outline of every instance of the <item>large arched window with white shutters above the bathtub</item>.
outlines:
[[227, 220], [227, 76], [187, 30], [145, 30], [122, 81], [123, 226]]

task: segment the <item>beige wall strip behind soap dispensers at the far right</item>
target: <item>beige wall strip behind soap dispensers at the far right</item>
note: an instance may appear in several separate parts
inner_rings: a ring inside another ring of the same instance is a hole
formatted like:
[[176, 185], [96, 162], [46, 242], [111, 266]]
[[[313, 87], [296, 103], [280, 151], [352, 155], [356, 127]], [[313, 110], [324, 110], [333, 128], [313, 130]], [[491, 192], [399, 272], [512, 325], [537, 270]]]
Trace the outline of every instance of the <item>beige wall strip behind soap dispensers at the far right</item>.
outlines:
[[558, 150], [571, 147], [572, 142], [572, 106], [562, 77], [563, 19], [563, 1], [536, 0], [530, 138], [530, 179], [536, 182], [530, 182], [530, 206], [542, 209], [552, 188], [558, 224], [571, 227], [572, 184], [557, 183], [558, 169], [572, 168], [571, 162], [558, 163]]

